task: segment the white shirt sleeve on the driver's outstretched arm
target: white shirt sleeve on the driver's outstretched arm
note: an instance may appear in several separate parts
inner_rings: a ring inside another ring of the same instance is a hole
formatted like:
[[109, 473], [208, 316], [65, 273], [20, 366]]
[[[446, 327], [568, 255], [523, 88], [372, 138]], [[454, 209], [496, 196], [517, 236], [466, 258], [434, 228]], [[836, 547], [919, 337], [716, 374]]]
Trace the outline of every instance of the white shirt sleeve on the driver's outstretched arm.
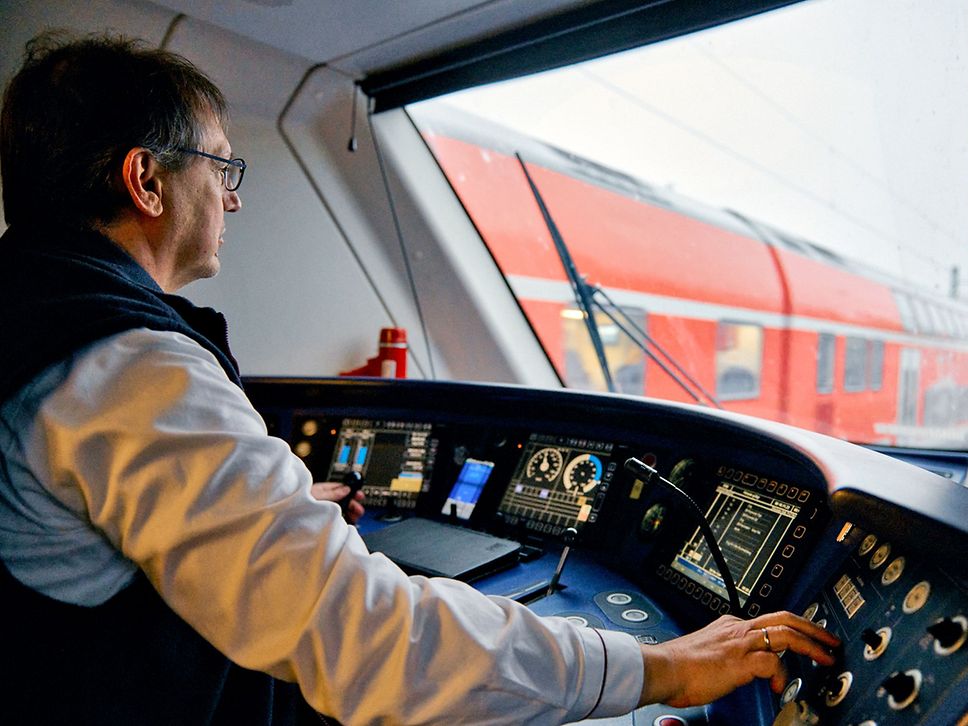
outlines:
[[80, 356], [43, 401], [29, 451], [51, 495], [83, 511], [216, 648], [297, 681], [346, 724], [551, 724], [638, 700], [631, 636], [407, 577], [369, 554], [183, 335], [130, 331]]

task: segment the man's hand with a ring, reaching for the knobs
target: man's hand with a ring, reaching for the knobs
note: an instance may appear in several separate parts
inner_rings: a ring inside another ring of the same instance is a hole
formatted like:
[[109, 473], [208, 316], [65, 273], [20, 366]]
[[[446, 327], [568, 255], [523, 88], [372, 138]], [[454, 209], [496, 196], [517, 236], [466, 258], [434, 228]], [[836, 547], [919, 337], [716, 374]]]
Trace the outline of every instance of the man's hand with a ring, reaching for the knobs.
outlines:
[[840, 641], [818, 625], [788, 612], [740, 620], [724, 615], [702, 630], [659, 645], [643, 645], [645, 683], [640, 706], [696, 706], [725, 696], [754, 678], [769, 678], [779, 693], [786, 669], [779, 653], [791, 650], [820, 665], [833, 665]]

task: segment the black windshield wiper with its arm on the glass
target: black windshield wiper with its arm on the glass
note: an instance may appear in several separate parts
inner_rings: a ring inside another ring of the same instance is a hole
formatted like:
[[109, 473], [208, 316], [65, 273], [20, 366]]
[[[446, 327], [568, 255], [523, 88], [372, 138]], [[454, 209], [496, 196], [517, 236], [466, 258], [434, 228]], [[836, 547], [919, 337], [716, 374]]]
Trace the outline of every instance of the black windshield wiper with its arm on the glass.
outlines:
[[[595, 349], [595, 356], [598, 358], [598, 364], [602, 369], [602, 375], [605, 378], [605, 384], [608, 390], [615, 392], [615, 382], [612, 378], [611, 370], [608, 366], [608, 360], [605, 357], [605, 346], [602, 344], [601, 333], [598, 329], [598, 322], [595, 320], [594, 311], [596, 309], [601, 310], [612, 323], [625, 334], [625, 336], [632, 342], [635, 347], [637, 347], [642, 353], [649, 357], [656, 365], [659, 366], [672, 380], [674, 380], [681, 388], [684, 390], [690, 398], [692, 398], [697, 403], [703, 405], [712, 405], [716, 408], [722, 408], [722, 404], [709, 393], [702, 384], [700, 384], [695, 378], [693, 378], [689, 373], [676, 362], [673, 358], [659, 343], [642, 329], [642, 327], [636, 323], [621, 307], [616, 305], [608, 294], [597, 285], [589, 285], [586, 279], [578, 272], [578, 268], [575, 265], [575, 260], [571, 256], [571, 251], [568, 249], [568, 245], [565, 244], [564, 238], [561, 236], [561, 232], [558, 230], [558, 226], [555, 224], [554, 218], [551, 216], [551, 212], [548, 210], [548, 205], [545, 204], [544, 198], [541, 196], [541, 192], [538, 190], [538, 186], [535, 184], [534, 179], [532, 179], [531, 174], [528, 172], [528, 168], [524, 163], [524, 159], [521, 158], [521, 154], [515, 152], [514, 156], [517, 158], [518, 163], [521, 165], [521, 170], [524, 172], [524, 177], [528, 181], [528, 186], [531, 188], [531, 193], [534, 195], [535, 202], [538, 204], [538, 208], [541, 210], [541, 216], [544, 219], [545, 226], [548, 228], [548, 233], [551, 235], [552, 241], [555, 243], [555, 250], [558, 252], [558, 258], [561, 260], [561, 265], [565, 270], [565, 275], [568, 278], [568, 282], [571, 284], [572, 294], [575, 298], [575, 303], [578, 305], [579, 310], [582, 313], [582, 317], [585, 320], [585, 327], [588, 329], [588, 336], [591, 338], [592, 347]], [[600, 302], [597, 297], [601, 297], [605, 300], [604, 304]], [[614, 311], [614, 312], [613, 312]], [[624, 323], [619, 320], [615, 312], [622, 316]], [[663, 362], [653, 351], [658, 351], [659, 354], [665, 358], [666, 362]], [[672, 370], [675, 368], [675, 370]], [[685, 379], [685, 380], [684, 380]], [[687, 383], [688, 381], [688, 383]]]

